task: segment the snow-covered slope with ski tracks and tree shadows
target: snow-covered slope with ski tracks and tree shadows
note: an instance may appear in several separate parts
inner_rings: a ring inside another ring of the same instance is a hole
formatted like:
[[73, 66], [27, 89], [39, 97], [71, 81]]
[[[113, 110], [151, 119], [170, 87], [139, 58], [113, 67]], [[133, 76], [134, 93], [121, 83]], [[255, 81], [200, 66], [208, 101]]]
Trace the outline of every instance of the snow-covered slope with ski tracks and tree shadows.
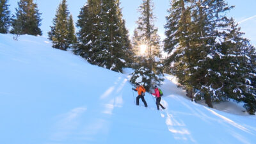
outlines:
[[193, 103], [168, 76], [165, 111], [148, 93], [149, 108], [135, 106], [127, 77], [43, 37], [0, 35], [0, 143], [255, 143], [255, 116]]

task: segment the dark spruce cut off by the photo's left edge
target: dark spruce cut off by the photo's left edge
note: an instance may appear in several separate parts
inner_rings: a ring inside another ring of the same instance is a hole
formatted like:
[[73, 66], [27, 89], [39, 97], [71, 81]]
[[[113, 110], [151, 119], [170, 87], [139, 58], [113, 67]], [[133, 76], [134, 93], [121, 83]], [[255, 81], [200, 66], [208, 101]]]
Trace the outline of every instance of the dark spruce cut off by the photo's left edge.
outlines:
[[8, 0], [0, 0], [0, 33], [8, 33], [10, 26], [10, 10], [8, 8]]

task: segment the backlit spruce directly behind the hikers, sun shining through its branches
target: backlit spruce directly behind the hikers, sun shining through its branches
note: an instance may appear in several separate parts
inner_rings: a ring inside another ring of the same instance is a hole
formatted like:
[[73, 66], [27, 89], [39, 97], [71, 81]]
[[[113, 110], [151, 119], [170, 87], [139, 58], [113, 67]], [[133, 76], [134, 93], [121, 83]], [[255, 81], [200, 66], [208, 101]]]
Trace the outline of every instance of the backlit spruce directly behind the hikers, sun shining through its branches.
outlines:
[[[132, 40], [135, 52], [138, 52], [137, 49], [140, 48], [140, 45], [147, 45], [147, 50], [143, 55], [143, 58], [138, 57], [140, 58], [139, 66], [141, 68], [135, 70], [133, 76], [131, 77], [132, 83], [136, 83], [136, 81], [138, 81], [136, 79], [138, 79], [139, 73], [141, 76], [145, 76], [143, 79], [147, 79], [147, 84], [145, 85], [147, 90], [152, 88], [154, 84], [161, 85], [161, 81], [163, 81], [163, 72], [159, 71], [157, 68], [159, 61], [154, 61], [156, 60], [155, 57], [158, 57], [157, 59], [159, 59], [161, 55], [159, 52], [160, 36], [157, 35], [157, 28], [155, 28], [153, 24], [154, 20], [156, 19], [153, 9], [154, 4], [151, 0], [143, 0], [143, 3], [139, 8], [141, 17], [139, 17], [137, 21], [138, 28], [136, 28], [136, 31], [134, 31], [134, 39]], [[145, 73], [141, 74], [141, 72]]]

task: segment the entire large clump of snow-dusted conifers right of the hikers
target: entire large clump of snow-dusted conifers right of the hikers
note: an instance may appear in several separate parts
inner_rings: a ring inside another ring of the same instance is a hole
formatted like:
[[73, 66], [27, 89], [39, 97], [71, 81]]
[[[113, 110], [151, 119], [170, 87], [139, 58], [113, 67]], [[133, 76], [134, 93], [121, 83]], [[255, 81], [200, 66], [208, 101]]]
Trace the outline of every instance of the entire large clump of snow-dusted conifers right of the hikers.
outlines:
[[192, 100], [229, 99], [256, 111], [255, 48], [225, 13], [225, 1], [173, 0], [165, 25], [166, 67]]

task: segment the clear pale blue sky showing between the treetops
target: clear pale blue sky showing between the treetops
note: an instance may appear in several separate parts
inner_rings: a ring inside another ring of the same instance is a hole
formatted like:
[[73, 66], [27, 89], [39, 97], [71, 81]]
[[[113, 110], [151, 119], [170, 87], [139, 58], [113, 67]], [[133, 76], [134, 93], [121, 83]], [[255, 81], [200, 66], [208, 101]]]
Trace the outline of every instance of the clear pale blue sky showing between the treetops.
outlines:
[[[9, 0], [10, 9], [12, 13], [15, 13], [15, 7], [19, 0]], [[56, 13], [58, 4], [61, 0], [34, 0], [38, 4], [38, 8], [42, 13], [42, 26], [43, 35], [47, 36], [47, 31], [52, 26], [52, 19]], [[142, 0], [120, 0], [123, 8], [124, 19], [126, 20], [126, 26], [130, 31], [130, 35], [134, 28], [136, 28], [136, 20], [138, 20], [138, 6], [140, 6]], [[164, 37], [164, 24], [166, 24], [165, 16], [170, 7], [169, 0], [153, 0], [155, 4], [154, 13], [157, 17], [156, 26], [159, 29], [159, 35]], [[256, 45], [256, 1], [255, 0], [227, 0], [229, 5], [236, 6], [233, 10], [227, 13], [228, 17], [234, 17], [241, 31], [245, 33], [244, 37], [252, 41], [253, 45]], [[68, 10], [73, 15], [74, 22], [77, 21], [77, 15], [79, 15], [80, 9], [86, 3], [86, 0], [67, 0]]]

